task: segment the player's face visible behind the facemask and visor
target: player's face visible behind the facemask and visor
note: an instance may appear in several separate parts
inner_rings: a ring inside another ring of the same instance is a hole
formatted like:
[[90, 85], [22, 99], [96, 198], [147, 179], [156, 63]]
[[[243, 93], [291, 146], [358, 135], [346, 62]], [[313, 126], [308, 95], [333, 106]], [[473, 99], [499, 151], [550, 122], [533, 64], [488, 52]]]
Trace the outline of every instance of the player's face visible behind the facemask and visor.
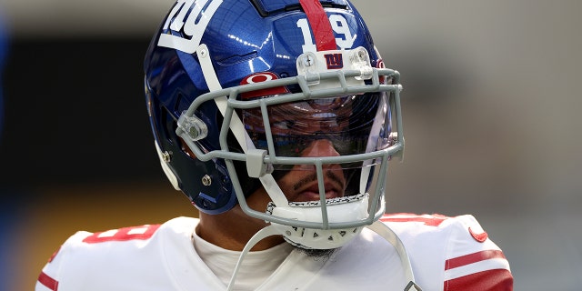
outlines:
[[[276, 156], [340, 156], [338, 151], [346, 147], [342, 138], [349, 124], [352, 98], [339, 96], [269, 106], [267, 111]], [[242, 116], [255, 146], [266, 148], [261, 109], [243, 110]], [[279, 165], [273, 175], [288, 201], [320, 199], [315, 166]], [[323, 178], [326, 199], [344, 196], [346, 177], [342, 166], [323, 165]]]

